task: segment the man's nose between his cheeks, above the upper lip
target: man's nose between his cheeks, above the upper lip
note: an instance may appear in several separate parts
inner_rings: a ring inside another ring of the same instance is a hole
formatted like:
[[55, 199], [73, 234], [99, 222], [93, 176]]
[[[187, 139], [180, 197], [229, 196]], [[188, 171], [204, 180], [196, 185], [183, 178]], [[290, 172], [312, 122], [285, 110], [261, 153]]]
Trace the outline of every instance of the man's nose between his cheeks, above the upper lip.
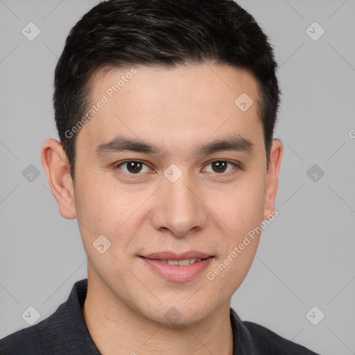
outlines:
[[151, 214], [156, 230], [170, 230], [175, 236], [184, 236], [205, 227], [207, 207], [200, 189], [191, 184], [187, 173], [176, 182], [164, 179], [157, 193], [159, 196]]

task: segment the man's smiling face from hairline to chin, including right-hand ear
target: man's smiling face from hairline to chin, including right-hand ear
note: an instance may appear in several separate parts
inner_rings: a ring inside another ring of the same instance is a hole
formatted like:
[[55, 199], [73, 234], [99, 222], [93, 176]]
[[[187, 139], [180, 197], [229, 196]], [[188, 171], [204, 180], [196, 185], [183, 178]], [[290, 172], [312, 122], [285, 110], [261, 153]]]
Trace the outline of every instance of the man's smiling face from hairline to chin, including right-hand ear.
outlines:
[[110, 302], [192, 324], [229, 307], [245, 278], [259, 243], [250, 231], [274, 209], [282, 146], [274, 140], [268, 172], [248, 71], [135, 69], [94, 76], [92, 103], [104, 104], [78, 133], [73, 216], [88, 278]]

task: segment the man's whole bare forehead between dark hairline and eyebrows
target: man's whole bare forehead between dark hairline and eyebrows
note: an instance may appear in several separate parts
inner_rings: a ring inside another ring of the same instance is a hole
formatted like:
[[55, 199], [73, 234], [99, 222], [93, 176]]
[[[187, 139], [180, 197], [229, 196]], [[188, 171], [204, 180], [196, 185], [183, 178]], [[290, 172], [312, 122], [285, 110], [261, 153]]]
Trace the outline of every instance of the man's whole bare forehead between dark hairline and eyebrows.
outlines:
[[[175, 148], [181, 142], [198, 144], [232, 131], [262, 136], [259, 86], [245, 69], [207, 64], [173, 69], [132, 66], [98, 71], [91, 83], [96, 112], [80, 130], [91, 148], [118, 134]], [[241, 110], [245, 105], [239, 106], [239, 101], [250, 105], [248, 110]]]

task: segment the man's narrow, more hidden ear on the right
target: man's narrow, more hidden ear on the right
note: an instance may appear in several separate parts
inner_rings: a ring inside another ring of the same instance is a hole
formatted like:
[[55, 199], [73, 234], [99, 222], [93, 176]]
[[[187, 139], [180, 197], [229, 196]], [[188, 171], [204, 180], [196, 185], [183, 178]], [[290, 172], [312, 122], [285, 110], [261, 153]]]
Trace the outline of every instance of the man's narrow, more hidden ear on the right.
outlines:
[[270, 161], [268, 169], [268, 182], [266, 184], [266, 198], [263, 209], [263, 219], [270, 219], [275, 211], [275, 198], [279, 185], [279, 169], [281, 165], [284, 145], [280, 139], [272, 139]]

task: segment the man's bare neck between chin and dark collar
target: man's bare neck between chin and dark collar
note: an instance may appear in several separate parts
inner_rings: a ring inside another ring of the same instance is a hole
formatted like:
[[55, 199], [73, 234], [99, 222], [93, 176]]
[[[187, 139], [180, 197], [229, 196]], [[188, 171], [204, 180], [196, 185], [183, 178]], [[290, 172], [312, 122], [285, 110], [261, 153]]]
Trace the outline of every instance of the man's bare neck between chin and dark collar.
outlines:
[[149, 320], [98, 285], [88, 284], [83, 315], [102, 355], [232, 355], [229, 302], [196, 324], [176, 326]]

